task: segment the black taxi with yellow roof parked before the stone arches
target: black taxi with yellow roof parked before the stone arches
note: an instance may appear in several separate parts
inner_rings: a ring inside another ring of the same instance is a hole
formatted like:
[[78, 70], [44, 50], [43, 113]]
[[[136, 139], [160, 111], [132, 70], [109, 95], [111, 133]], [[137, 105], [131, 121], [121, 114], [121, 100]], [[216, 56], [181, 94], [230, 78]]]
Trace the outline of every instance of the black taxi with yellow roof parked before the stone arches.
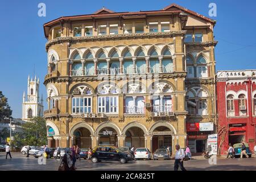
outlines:
[[133, 160], [133, 156], [127, 152], [119, 150], [113, 146], [97, 146], [92, 150], [93, 163], [101, 162], [101, 160], [119, 161], [120, 163], [127, 163]]

